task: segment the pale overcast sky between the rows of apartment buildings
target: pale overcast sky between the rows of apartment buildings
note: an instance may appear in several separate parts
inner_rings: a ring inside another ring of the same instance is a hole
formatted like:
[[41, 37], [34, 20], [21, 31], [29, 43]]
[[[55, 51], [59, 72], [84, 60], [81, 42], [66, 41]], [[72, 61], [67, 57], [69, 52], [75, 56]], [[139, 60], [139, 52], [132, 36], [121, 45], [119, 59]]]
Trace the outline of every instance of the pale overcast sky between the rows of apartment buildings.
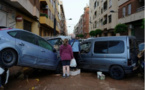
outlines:
[[[84, 13], [84, 7], [89, 5], [89, 0], [62, 0], [62, 2], [68, 34], [71, 34], [73, 33], [74, 26], [78, 23], [80, 16]], [[72, 20], [68, 20], [69, 18], [72, 18]]]

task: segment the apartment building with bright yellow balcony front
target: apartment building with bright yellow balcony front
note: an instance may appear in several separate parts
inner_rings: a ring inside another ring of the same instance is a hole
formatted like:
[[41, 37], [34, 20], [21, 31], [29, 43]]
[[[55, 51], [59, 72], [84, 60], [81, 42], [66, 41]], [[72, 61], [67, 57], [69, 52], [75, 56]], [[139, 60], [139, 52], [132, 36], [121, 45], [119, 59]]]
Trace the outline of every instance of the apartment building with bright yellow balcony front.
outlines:
[[54, 36], [60, 32], [58, 0], [40, 0], [40, 36]]

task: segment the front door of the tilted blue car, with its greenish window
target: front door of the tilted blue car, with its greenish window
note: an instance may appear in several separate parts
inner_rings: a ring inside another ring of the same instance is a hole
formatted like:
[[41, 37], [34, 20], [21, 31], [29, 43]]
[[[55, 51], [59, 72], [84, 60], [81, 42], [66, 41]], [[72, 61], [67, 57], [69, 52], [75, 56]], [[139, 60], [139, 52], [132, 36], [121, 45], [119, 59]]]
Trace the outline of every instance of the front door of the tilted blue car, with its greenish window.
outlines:
[[57, 63], [57, 53], [54, 48], [44, 39], [38, 37], [37, 43], [40, 46], [39, 58], [37, 61], [38, 66], [46, 69], [52, 69]]

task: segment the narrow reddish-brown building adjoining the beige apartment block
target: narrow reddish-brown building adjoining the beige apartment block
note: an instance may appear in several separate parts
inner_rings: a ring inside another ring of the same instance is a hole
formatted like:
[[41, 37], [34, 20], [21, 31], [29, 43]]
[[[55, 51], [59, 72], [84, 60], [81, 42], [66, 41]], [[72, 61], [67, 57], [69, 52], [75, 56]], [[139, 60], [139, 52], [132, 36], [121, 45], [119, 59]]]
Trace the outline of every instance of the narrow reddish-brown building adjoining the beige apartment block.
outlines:
[[89, 6], [87, 5], [84, 8], [84, 17], [83, 17], [83, 34], [84, 38], [89, 38]]

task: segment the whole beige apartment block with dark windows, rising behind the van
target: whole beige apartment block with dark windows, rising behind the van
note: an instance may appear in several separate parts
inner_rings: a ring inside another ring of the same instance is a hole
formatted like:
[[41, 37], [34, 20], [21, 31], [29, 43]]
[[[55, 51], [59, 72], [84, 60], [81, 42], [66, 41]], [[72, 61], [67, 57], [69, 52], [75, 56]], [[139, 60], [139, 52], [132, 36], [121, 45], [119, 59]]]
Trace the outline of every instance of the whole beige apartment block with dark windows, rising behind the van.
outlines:
[[[114, 28], [118, 23], [118, 0], [90, 0], [89, 4], [89, 32], [101, 29], [101, 36], [115, 36]], [[111, 13], [111, 10], [116, 13]]]

